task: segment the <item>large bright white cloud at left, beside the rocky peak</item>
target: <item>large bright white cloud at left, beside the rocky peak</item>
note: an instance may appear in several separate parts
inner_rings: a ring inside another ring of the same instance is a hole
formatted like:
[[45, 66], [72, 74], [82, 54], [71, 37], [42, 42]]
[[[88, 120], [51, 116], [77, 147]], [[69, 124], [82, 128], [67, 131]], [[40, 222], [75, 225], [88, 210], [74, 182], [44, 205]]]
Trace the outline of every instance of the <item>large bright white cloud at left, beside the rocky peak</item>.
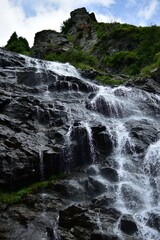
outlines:
[[32, 46], [34, 35], [43, 29], [59, 31], [62, 22], [69, 17], [64, 9], [49, 9], [38, 5], [36, 15], [26, 17], [21, 5], [13, 5], [9, 0], [0, 0], [0, 46], [4, 46], [11, 34], [16, 31], [18, 36], [25, 37]]

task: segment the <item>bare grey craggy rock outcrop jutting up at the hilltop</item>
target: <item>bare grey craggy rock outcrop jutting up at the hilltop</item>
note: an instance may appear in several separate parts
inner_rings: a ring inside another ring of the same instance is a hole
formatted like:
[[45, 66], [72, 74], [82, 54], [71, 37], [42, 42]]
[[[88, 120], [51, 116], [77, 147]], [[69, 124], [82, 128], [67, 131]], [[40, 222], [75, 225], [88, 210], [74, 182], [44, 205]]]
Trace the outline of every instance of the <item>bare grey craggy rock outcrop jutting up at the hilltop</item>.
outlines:
[[[36, 33], [32, 56], [44, 59], [49, 53], [64, 53], [79, 48], [90, 51], [97, 43], [97, 34], [94, 23], [97, 22], [94, 13], [89, 14], [85, 8], [71, 12], [69, 27], [65, 34], [52, 30], [43, 30]], [[67, 35], [69, 35], [68, 40]]]

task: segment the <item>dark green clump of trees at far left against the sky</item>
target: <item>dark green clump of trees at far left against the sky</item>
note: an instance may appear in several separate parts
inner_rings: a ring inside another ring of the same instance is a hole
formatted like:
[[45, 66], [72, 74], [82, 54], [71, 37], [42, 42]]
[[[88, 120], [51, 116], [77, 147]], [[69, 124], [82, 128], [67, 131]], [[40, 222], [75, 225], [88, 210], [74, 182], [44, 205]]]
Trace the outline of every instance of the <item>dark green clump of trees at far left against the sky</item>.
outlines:
[[11, 35], [5, 48], [12, 52], [30, 55], [30, 47], [27, 40], [23, 37], [18, 37], [16, 32]]

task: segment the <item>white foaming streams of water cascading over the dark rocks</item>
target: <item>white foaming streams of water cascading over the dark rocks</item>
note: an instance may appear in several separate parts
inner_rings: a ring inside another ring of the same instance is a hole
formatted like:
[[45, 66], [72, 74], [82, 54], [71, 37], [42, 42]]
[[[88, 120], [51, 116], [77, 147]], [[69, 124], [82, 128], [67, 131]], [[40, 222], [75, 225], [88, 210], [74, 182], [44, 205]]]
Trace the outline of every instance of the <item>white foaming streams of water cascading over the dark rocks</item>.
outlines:
[[[40, 72], [41, 68], [45, 68], [46, 71], [53, 71], [58, 75], [73, 76], [82, 80], [76, 69], [69, 64], [42, 62], [39, 60], [34, 60], [32, 63], [28, 58], [26, 58], [26, 61], [30, 67], [36, 65], [39, 69], [38, 72]], [[85, 81], [85, 79], [83, 79], [83, 81]], [[92, 89], [92, 83], [87, 81], [87, 84], [89, 84]], [[68, 83], [68, 86], [68, 90], [72, 90], [70, 82]], [[78, 85], [77, 89], [79, 91]], [[116, 136], [114, 139], [116, 144], [114, 144], [114, 152], [112, 153], [112, 158], [114, 159], [113, 165], [117, 166], [116, 171], [119, 178], [119, 181], [115, 183], [115, 207], [121, 211], [122, 215], [132, 215], [138, 226], [138, 233], [136, 234], [138, 234], [137, 236], [143, 240], [160, 239], [158, 231], [147, 225], [150, 212], [160, 212], [159, 201], [153, 200], [153, 192], [157, 191], [159, 193], [160, 189], [158, 181], [158, 171], [160, 168], [160, 142], [158, 141], [148, 147], [144, 157], [144, 163], [141, 164], [140, 169], [137, 169], [137, 162], [142, 160], [139, 159], [138, 154], [135, 151], [134, 142], [130, 137], [130, 130], [127, 129], [126, 124], [133, 119], [138, 121], [141, 121], [142, 119], [145, 119], [146, 121], [149, 121], [150, 118], [153, 119], [148, 110], [148, 102], [152, 106], [155, 105], [155, 102], [157, 105], [159, 100], [159, 96], [137, 89], [99, 86], [95, 96], [91, 100], [87, 100], [89, 106], [88, 109], [91, 111], [87, 112], [84, 109], [77, 109], [79, 111], [80, 125], [85, 127], [87, 131], [92, 164], [96, 163], [96, 149], [93, 144], [93, 135], [91, 131], [92, 124], [90, 121], [87, 121], [88, 117], [87, 115], [85, 116], [85, 114], [89, 114], [89, 119], [92, 119], [92, 122], [98, 121], [102, 125], [105, 125], [112, 137]], [[76, 108], [77, 106], [73, 107], [73, 109]], [[74, 123], [74, 115], [71, 114], [71, 111], [73, 111], [73, 109], [69, 109], [71, 125], [66, 134], [66, 145], [68, 149], [66, 158], [68, 166], [74, 161], [71, 148], [71, 134]], [[42, 156], [40, 159], [42, 159]], [[99, 168], [99, 165], [97, 165], [97, 167]], [[156, 185], [155, 189], [153, 189], [150, 183], [151, 175], [153, 175]], [[109, 185], [108, 181], [106, 182], [99, 173], [95, 179], [98, 179], [102, 184], [105, 184], [106, 188]], [[103, 233], [99, 213], [97, 215], [97, 224], [99, 230]], [[121, 239], [123, 239], [119, 224], [115, 226], [115, 232]]]

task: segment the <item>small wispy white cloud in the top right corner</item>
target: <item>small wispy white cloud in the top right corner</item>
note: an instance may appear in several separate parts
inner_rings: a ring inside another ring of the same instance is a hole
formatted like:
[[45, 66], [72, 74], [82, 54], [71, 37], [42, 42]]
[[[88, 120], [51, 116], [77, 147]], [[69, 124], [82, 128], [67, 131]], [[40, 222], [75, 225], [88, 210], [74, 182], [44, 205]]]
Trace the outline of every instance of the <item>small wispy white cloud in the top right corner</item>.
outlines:
[[140, 18], [143, 18], [144, 20], [150, 20], [152, 16], [156, 13], [158, 5], [158, 0], [150, 1], [148, 6], [144, 7], [139, 11], [138, 16]]

